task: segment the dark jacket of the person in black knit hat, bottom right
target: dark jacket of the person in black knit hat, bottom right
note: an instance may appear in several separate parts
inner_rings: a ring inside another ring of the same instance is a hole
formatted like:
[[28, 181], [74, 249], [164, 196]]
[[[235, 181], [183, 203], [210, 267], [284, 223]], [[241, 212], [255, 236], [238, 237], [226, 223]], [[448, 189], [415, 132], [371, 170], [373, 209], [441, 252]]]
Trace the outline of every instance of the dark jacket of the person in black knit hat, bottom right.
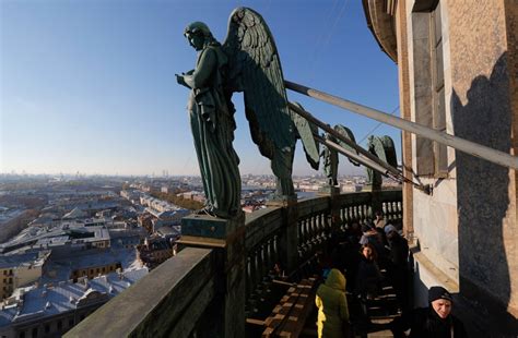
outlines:
[[468, 337], [462, 322], [451, 314], [446, 319], [440, 318], [432, 305], [415, 309], [390, 323], [390, 329], [396, 338], [407, 337], [403, 331], [409, 328], [411, 338]]

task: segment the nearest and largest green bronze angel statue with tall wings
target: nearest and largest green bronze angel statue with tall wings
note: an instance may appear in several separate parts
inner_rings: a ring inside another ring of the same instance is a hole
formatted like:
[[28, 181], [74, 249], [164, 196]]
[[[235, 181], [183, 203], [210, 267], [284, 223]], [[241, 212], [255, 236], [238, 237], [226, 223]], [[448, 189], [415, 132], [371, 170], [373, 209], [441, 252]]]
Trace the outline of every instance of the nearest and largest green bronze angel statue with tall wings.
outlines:
[[[239, 158], [232, 145], [235, 92], [244, 93], [251, 137], [271, 160], [276, 195], [294, 195], [297, 128], [307, 134], [309, 124], [293, 122], [276, 47], [261, 15], [247, 8], [234, 10], [223, 45], [202, 22], [189, 24], [184, 35], [198, 59], [195, 70], [176, 76], [191, 89], [188, 111], [207, 195], [204, 210], [231, 218], [240, 208]], [[306, 153], [307, 148], [311, 149], [307, 155], [311, 166], [318, 168], [318, 148], [305, 145]]]

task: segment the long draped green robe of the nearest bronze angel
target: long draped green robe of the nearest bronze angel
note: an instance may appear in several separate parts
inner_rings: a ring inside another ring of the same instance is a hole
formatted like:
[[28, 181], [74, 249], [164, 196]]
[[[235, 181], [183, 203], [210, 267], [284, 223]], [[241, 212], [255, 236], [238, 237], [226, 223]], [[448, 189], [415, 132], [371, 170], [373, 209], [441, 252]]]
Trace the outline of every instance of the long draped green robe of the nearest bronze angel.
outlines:
[[242, 189], [239, 158], [232, 146], [236, 128], [234, 111], [223, 90], [226, 64], [221, 46], [212, 43], [199, 51], [192, 74], [184, 76], [192, 88], [187, 108], [207, 210], [222, 218], [239, 212]]

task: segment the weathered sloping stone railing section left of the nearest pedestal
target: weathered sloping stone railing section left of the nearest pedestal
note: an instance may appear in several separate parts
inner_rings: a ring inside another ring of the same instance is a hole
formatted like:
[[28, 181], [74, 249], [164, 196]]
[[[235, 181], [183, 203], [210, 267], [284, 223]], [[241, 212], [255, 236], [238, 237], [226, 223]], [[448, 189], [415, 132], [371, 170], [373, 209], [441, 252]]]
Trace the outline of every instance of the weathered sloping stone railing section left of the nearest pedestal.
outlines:
[[66, 337], [168, 337], [173, 328], [186, 337], [215, 293], [213, 266], [212, 250], [185, 249]]

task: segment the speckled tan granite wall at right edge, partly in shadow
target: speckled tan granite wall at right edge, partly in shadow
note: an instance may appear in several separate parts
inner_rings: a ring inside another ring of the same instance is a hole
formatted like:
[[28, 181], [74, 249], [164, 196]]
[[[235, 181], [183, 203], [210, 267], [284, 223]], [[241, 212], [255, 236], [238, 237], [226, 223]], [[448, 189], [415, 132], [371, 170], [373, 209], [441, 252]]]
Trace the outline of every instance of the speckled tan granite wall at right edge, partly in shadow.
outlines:
[[[516, 7], [517, 1], [511, 2]], [[507, 29], [516, 21], [506, 23], [511, 11], [506, 11], [505, 1], [447, 3], [449, 22], [455, 23], [449, 26], [455, 134], [509, 153], [517, 94], [510, 82], [513, 72], [516, 79], [516, 61], [509, 62], [516, 60], [516, 45], [508, 50]], [[460, 152], [456, 167], [460, 289], [464, 295], [508, 307], [516, 317], [516, 173]]]

